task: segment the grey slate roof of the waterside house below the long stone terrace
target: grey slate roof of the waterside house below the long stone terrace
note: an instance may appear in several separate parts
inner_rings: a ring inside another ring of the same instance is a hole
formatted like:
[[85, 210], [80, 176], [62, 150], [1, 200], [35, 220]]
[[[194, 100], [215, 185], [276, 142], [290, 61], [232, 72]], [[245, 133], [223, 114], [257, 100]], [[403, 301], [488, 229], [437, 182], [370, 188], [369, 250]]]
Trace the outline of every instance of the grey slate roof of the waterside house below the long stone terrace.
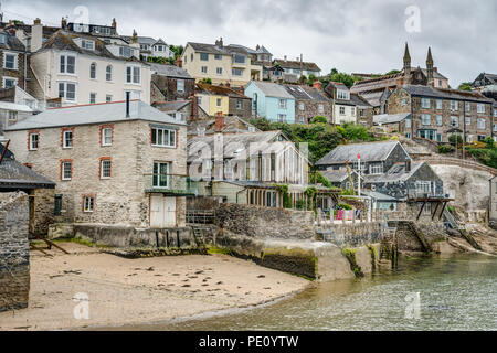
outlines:
[[343, 164], [346, 161], [356, 161], [361, 154], [362, 162], [384, 161], [399, 141], [381, 141], [340, 145], [321, 158], [316, 165]]

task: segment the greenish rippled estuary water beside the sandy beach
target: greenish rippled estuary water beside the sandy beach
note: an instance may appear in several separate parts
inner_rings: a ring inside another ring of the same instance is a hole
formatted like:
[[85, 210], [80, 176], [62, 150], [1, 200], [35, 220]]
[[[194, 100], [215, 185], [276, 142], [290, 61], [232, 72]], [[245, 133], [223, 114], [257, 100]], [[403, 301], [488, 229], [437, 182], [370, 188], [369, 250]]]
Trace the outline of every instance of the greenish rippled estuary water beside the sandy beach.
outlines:
[[130, 329], [495, 331], [497, 258], [458, 255], [401, 259], [396, 271], [318, 284], [266, 307]]

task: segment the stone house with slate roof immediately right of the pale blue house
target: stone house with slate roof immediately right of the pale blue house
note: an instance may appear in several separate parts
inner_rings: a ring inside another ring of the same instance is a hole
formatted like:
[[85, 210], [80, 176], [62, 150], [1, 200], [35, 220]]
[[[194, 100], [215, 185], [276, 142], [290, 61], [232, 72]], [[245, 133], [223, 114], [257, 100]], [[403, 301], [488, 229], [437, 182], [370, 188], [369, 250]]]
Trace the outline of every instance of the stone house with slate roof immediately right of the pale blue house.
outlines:
[[295, 98], [295, 124], [309, 124], [316, 116], [322, 116], [332, 121], [332, 103], [320, 92], [320, 83], [315, 87], [307, 85], [284, 85]]

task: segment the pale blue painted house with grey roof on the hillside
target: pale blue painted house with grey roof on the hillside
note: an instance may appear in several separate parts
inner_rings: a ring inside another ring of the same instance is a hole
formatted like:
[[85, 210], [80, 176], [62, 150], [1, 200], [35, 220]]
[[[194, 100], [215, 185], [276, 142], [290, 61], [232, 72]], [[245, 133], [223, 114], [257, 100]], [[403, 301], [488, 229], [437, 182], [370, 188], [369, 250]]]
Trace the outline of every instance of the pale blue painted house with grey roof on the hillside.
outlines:
[[252, 116], [271, 121], [295, 122], [295, 98], [285, 86], [251, 81], [245, 88], [245, 95], [252, 98]]

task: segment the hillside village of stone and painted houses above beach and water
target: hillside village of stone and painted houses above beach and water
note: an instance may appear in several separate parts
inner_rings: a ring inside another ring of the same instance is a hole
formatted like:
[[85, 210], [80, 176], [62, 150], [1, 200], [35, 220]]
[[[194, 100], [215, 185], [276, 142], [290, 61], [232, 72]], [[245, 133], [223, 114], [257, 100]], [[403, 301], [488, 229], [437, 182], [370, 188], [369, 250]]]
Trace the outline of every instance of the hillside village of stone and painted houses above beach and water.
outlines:
[[[436, 47], [419, 66], [399, 43], [399, 71], [350, 83], [271, 43], [179, 52], [110, 23], [0, 23], [0, 256], [28, 278], [0, 310], [28, 304], [30, 240], [224, 247], [320, 280], [339, 277], [286, 246], [496, 254], [497, 73], [456, 89]], [[366, 253], [346, 267], [372, 271]]]

